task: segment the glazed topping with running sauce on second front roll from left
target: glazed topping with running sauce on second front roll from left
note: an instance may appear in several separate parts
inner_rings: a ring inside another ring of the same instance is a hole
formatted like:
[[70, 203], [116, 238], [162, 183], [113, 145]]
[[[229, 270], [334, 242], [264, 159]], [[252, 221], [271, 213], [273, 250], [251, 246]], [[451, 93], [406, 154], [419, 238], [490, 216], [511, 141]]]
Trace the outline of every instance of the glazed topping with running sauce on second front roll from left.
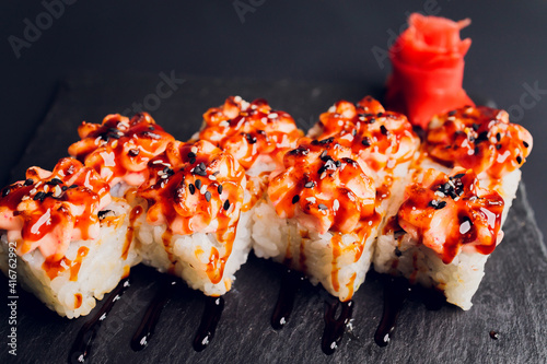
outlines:
[[[212, 283], [219, 283], [235, 238], [245, 171], [207, 141], [170, 143], [149, 163], [149, 179], [138, 190], [149, 201], [147, 222], [166, 224], [170, 235], [216, 234], [221, 248], [211, 249], [203, 270]], [[170, 246], [165, 248], [171, 253]]]

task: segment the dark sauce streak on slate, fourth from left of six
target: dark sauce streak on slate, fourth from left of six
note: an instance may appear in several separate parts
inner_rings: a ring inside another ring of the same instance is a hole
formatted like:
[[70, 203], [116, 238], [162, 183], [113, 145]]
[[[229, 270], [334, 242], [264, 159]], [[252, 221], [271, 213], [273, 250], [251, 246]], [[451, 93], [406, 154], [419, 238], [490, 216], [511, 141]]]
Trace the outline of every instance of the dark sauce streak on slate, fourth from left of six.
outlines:
[[294, 306], [294, 298], [300, 289], [302, 275], [298, 272], [287, 269], [283, 272], [281, 286], [279, 287], [279, 296], [277, 298], [274, 314], [271, 315], [271, 327], [280, 330], [289, 321], [292, 308]]

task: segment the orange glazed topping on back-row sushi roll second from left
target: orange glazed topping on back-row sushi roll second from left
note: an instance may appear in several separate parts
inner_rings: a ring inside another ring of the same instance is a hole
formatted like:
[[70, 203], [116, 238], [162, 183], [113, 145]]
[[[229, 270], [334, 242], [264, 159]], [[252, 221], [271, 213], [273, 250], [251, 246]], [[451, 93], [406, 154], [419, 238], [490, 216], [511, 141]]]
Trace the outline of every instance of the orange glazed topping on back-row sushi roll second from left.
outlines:
[[289, 114], [272, 110], [263, 98], [249, 104], [231, 96], [224, 105], [205, 113], [203, 120], [198, 138], [234, 155], [245, 169], [260, 155], [281, 165], [283, 153], [303, 136]]

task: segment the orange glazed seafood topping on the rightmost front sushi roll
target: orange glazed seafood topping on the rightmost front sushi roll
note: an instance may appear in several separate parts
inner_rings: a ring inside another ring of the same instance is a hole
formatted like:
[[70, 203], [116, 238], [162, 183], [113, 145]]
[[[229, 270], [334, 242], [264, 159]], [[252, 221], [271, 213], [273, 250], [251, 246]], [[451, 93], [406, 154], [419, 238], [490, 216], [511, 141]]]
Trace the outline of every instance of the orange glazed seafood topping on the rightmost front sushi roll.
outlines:
[[415, 240], [450, 263], [462, 249], [491, 254], [503, 236], [503, 199], [478, 187], [472, 169], [456, 167], [451, 176], [428, 169], [421, 183], [405, 191], [397, 219]]

